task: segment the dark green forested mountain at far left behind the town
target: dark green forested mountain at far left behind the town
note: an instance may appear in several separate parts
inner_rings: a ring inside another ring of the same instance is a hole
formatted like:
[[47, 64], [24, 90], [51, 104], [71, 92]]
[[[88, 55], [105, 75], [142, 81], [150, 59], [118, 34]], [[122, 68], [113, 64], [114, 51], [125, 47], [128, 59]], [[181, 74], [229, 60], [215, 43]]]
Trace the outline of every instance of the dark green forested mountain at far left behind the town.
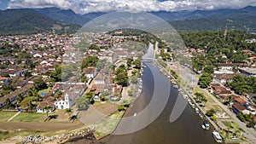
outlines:
[[37, 32], [75, 32], [79, 25], [63, 24], [32, 9], [0, 11], [0, 34], [32, 34]]

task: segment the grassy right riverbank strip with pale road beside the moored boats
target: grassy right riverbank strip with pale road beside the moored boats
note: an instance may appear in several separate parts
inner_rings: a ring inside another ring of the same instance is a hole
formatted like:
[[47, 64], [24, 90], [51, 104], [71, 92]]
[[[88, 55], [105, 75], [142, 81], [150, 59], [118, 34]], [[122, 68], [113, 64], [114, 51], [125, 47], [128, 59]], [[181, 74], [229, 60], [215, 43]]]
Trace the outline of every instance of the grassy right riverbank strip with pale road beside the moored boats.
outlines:
[[[173, 71], [176, 72], [176, 74], [178, 75], [178, 80], [177, 80], [177, 84], [179, 85], [179, 87], [181, 87], [183, 89], [183, 93], [185, 93], [186, 95], [189, 96], [189, 101], [193, 102], [193, 108], [198, 108], [200, 109], [200, 112], [203, 113], [204, 118], [206, 118], [212, 125], [213, 130], [217, 130], [220, 132], [220, 134], [222, 135], [222, 137], [224, 138], [224, 141], [227, 142], [231, 142], [231, 143], [245, 143], [247, 141], [246, 139], [246, 132], [244, 130], [241, 130], [241, 128], [239, 128], [239, 126], [237, 125], [237, 129], [236, 127], [230, 127], [228, 123], [229, 121], [234, 121], [234, 119], [232, 119], [232, 117], [230, 117], [230, 112], [227, 112], [225, 109], [222, 109], [223, 107], [219, 104], [220, 102], [216, 102], [218, 100], [212, 99], [212, 95], [208, 93], [206, 93], [204, 89], [200, 89], [196, 82], [197, 82], [197, 78], [196, 76], [193, 74], [193, 72], [190, 72], [188, 68], [186, 68], [185, 66], [181, 66], [179, 64], [179, 66], [175, 65], [175, 64], [170, 64], [170, 63], [166, 63], [166, 67], [172, 69]], [[175, 65], [175, 66], [174, 66]], [[172, 75], [172, 72], [168, 72], [168, 74]], [[172, 78], [174, 78], [172, 76]], [[187, 82], [184, 83], [183, 78], [187, 78]], [[188, 82], [188, 79], [191, 78], [193, 79], [193, 81]], [[175, 79], [175, 78], [174, 78]], [[198, 91], [199, 90], [199, 91]], [[206, 95], [208, 102], [205, 104], [205, 107], [201, 107], [201, 104], [197, 103], [196, 98], [195, 98], [195, 93], [196, 92], [200, 92], [203, 95]], [[216, 110], [219, 114], [218, 115], [225, 115], [224, 118], [216, 116], [215, 121], [212, 120], [212, 117], [209, 118], [206, 116], [206, 112], [210, 109], [214, 109]], [[200, 113], [198, 112], [198, 113]], [[222, 113], [222, 114], [220, 114]], [[228, 114], [227, 114], [228, 113]]]

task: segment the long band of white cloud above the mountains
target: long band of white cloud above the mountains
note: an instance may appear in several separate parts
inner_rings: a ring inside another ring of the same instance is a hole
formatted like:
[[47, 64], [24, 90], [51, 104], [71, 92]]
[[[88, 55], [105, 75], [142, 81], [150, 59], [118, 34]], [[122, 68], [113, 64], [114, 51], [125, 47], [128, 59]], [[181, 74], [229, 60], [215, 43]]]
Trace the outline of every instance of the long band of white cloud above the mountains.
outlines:
[[11, 0], [9, 9], [58, 7], [73, 9], [77, 13], [109, 11], [175, 11], [195, 9], [242, 8], [256, 6], [255, 0]]

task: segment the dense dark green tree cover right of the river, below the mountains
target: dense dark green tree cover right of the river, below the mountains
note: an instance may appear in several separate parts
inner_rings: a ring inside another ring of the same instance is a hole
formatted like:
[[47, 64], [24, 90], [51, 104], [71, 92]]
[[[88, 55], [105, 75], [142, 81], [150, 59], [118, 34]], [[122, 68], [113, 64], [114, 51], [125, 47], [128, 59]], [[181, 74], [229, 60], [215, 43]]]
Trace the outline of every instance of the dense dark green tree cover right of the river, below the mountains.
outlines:
[[242, 52], [243, 49], [256, 52], [256, 43], [245, 41], [256, 35], [247, 32], [228, 31], [226, 36], [224, 32], [183, 32], [180, 35], [188, 48], [203, 50], [192, 58], [197, 71], [214, 63], [242, 63], [249, 56]]

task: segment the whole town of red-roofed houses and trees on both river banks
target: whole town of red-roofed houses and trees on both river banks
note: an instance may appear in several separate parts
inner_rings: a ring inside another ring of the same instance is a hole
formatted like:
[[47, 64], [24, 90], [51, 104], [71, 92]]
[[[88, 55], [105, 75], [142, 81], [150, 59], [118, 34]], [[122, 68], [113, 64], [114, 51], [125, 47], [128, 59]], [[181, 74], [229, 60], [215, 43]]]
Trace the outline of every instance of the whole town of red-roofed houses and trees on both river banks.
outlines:
[[[90, 106], [107, 116], [122, 116], [131, 101], [142, 93], [141, 59], [149, 43], [154, 43], [160, 71], [177, 81], [171, 80], [183, 95], [183, 90], [188, 92], [190, 105], [196, 103], [226, 141], [245, 141], [246, 133], [255, 133], [256, 55], [253, 50], [222, 49], [219, 60], [212, 59], [211, 62], [216, 62], [210, 65], [210, 59], [206, 59], [210, 52], [186, 43], [188, 36], [183, 36], [187, 48], [175, 51], [150, 35], [125, 32], [90, 33], [97, 38], [86, 40], [74, 34], [54, 32], [1, 36], [0, 108], [1, 114], [8, 117], [1, 121], [29, 124], [58, 122], [58, 118], [63, 118], [62, 122], [70, 123], [86, 116], [90, 120], [85, 118], [84, 123], [90, 123], [99, 120], [93, 118], [95, 115], [90, 116], [94, 112]], [[241, 41], [255, 43], [255, 39]], [[231, 53], [247, 58], [230, 61]], [[192, 73], [194, 84], [184, 84], [183, 73], [188, 72]], [[29, 113], [26, 120], [22, 113]], [[38, 118], [32, 119], [37, 113]], [[106, 133], [113, 129], [114, 126]]]

